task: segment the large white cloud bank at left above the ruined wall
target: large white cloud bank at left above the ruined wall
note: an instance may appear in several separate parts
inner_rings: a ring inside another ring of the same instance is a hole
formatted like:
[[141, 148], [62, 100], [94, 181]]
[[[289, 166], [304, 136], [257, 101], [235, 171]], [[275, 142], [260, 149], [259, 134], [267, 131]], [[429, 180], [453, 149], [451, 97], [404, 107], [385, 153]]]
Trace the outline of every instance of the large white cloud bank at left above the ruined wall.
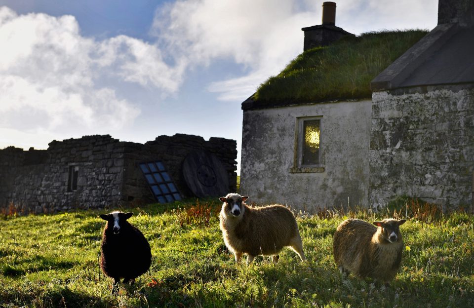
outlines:
[[139, 39], [82, 37], [73, 16], [18, 15], [8, 7], [0, 7], [0, 46], [0, 130], [7, 134], [0, 148], [31, 134], [124, 130], [140, 109], [115, 89], [128, 82], [171, 94], [186, 67], [167, 65], [156, 45]]

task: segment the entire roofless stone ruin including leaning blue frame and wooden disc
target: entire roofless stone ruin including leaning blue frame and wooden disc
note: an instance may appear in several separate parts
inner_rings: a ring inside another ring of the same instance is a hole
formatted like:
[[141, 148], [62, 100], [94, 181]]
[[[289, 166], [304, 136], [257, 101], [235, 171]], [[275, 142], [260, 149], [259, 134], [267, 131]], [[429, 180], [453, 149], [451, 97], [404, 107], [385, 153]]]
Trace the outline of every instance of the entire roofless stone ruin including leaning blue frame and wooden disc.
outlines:
[[0, 209], [54, 212], [166, 203], [237, 185], [237, 143], [176, 134], [145, 144], [105, 136], [0, 150]]

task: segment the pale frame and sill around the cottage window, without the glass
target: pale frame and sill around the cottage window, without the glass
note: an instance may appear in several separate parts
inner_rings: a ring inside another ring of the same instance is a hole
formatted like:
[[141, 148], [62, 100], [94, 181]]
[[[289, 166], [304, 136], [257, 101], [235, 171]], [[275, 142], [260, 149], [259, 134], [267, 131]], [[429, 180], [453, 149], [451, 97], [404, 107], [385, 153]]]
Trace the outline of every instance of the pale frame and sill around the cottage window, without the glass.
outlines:
[[[318, 151], [318, 162], [316, 164], [303, 164], [303, 150], [304, 150], [304, 126], [307, 121], [319, 121], [319, 151]], [[296, 117], [295, 123], [295, 147], [293, 157], [293, 167], [290, 168], [290, 173], [312, 173], [312, 172], [324, 172], [324, 166], [322, 164], [322, 132], [323, 132], [323, 121], [322, 116], [301, 116]]]

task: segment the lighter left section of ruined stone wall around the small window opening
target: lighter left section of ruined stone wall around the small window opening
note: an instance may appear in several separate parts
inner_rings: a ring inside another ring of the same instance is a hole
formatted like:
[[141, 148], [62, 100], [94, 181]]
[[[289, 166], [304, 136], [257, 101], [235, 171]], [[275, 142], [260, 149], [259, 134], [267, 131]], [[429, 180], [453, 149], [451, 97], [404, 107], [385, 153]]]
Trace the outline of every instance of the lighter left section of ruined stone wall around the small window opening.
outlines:
[[[25, 212], [38, 213], [120, 203], [123, 145], [109, 135], [53, 141], [40, 162], [31, 159], [31, 151], [16, 152], [5, 168], [8, 172], [1, 175], [2, 182], [9, 182], [7, 190], [0, 193], [3, 207], [12, 203]], [[5, 164], [7, 161], [3, 160]], [[68, 191], [69, 168], [73, 165], [79, 167], [78, 185], [76, 191]]]

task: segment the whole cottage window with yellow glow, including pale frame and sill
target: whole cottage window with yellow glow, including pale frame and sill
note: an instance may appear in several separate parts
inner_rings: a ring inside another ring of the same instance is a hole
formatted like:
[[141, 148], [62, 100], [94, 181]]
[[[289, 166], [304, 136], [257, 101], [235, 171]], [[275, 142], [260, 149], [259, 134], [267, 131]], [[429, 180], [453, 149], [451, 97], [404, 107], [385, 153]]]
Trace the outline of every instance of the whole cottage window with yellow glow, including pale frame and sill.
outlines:
[[321, 166], [321, 117], [299, 117], [296, 120], [295, 154], [292, 173], [323, 172]]

